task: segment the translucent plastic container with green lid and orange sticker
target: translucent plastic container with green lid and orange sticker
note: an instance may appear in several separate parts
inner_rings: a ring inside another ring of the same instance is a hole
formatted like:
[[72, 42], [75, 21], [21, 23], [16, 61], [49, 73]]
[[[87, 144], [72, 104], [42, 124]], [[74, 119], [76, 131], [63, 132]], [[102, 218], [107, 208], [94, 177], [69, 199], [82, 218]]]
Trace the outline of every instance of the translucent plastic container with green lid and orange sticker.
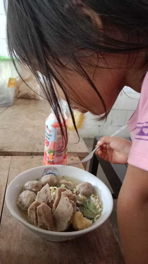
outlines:
[[[0, 56], [0, 107], [13, 104], [16, 75], [17, 73], [11, 59]], [[10, 81], [9, 78], [11, 78]]]

